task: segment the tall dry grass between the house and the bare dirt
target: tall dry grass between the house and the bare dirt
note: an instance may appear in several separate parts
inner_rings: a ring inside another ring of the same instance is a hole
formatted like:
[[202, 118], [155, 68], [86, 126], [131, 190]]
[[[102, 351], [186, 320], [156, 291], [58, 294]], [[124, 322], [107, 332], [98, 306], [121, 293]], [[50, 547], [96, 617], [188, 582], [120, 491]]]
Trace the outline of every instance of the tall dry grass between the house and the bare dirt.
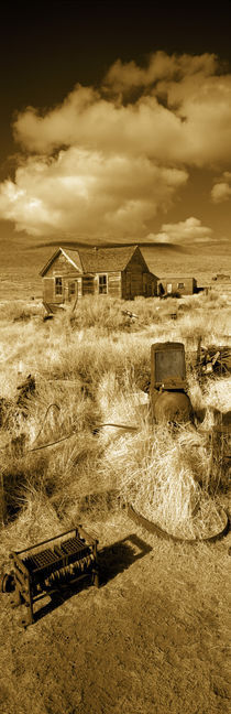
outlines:
[[[143, 391], [153, 342], [176, 339], [186, 351], [195, 350], [202, 333], [205, 340], [212, 336], [221, 344], [220, 303], [213, 300], [211, 316], [211, 301], [199, 298], [177, 301], [184, 310], [174, 322], [170, 299], [135, 300], [139, 331], [136, 323], [123, 322], [121, 310], [131, 304], [122, 301], [96, 304], [87, 299], [74, 318], [63, 313], [46, 323], [43, 313], [14, 321], [12, 305], [6, 309], [0, 396], [8, 403], [0, 429], [0, 469], [4, 522], [12, 539], [24, 544], [50, 536], [58, 524], [78, 521], [82, 511], [106, 518], [109, 507], [117, 509], [127, 499], [172, 532], [205, 534], [219, 528], [227, 474], [211, 478], [206, 429], [212, 425], [212, 407], [230, 409], [230, 381], [210, 380], [201, 390], [195, 370], [188, 372], [193, 405], [206, 408], [199, 430], [190, 424], [178, 432], [153, 428]], [[36, 390], [25, 419], [15, 402], [16, 388], [29, 372]], [[138, 430], [99, 426], [106, 422]], [[23, 435], [19, 456], [12, 440]], [[56, 445], [30, 451], [65, 436]]]

